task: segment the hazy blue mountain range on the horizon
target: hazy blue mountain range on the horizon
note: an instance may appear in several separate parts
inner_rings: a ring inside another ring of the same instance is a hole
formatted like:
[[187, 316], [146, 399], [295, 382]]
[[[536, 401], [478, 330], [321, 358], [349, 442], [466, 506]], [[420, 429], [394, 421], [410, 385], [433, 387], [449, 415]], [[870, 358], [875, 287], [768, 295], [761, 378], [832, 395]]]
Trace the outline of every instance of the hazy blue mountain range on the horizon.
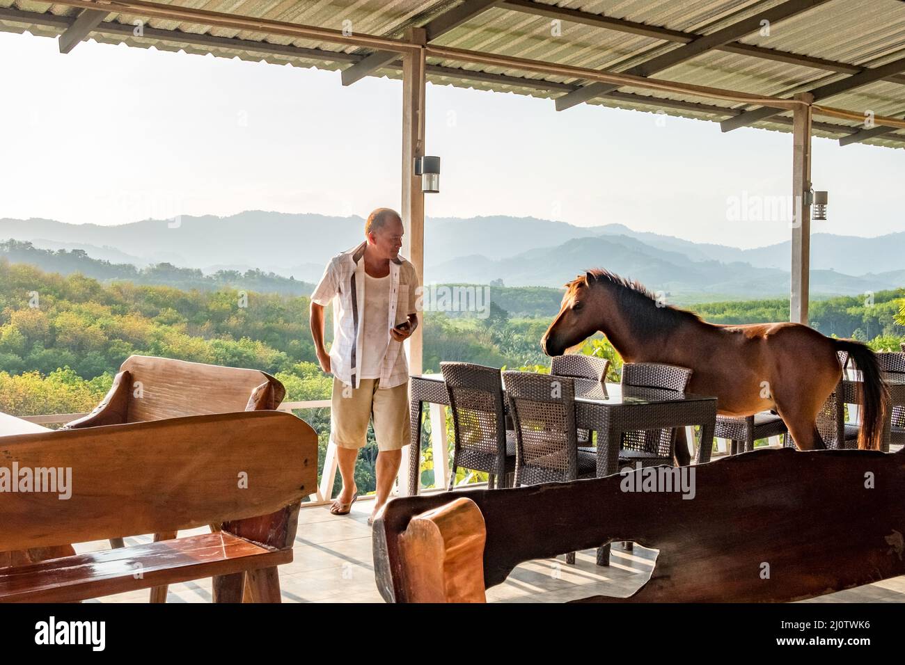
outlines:
[[[360, 242], [357, 216], [247, 211], [115, 226], [0, 219], [0, 240], [80, 249], [138, 268], [159, 262], [218, 270], [273, 271], [316, 282], [330, 256]], [[789, 242], [743, 250], [623, 224], [581, 227], [534, 217], [430, 218], [424, 224], [425, 281], [559, 287], [602, 267], [680, 300], [785, 297]], [[814, 233], [812, 297], [905, 286], [905, 233], [875, 238]], [[499, 282], [498, 282], [499, 283]]]

